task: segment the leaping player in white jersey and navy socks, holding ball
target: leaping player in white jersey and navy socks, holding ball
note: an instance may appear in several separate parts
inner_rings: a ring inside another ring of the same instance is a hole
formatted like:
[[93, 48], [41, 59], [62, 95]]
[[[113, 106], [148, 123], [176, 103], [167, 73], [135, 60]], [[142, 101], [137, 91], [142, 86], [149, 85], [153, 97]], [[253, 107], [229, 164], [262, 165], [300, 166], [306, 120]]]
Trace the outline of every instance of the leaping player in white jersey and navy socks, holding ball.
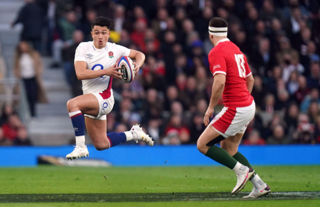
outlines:
[[74, 57], [77, 78], [82, 80], [83, 95], [66, 103], [76, 138], [76, 146], [66, 158], [89, 156], [85, 145], [85, 126], [93, 145], [99, 151], [130, 140], [140, 140], [153, 146], [149, 135], [137, 125], [130, 131], [107, 134], [106, 115], [114, 105], [112, 78], [121, 78], [122, 75], [118, 72], [120, 67], [116, 67], [116, 61], [121, 56], [134, 59], [133, 70], [136, 75], [144, 63], [145, 55], [108, 42], [111, 30], [114, 28], [113, 20], [97, 17], [92, 22], [91, 28], [93, 41], [80, 43]]

